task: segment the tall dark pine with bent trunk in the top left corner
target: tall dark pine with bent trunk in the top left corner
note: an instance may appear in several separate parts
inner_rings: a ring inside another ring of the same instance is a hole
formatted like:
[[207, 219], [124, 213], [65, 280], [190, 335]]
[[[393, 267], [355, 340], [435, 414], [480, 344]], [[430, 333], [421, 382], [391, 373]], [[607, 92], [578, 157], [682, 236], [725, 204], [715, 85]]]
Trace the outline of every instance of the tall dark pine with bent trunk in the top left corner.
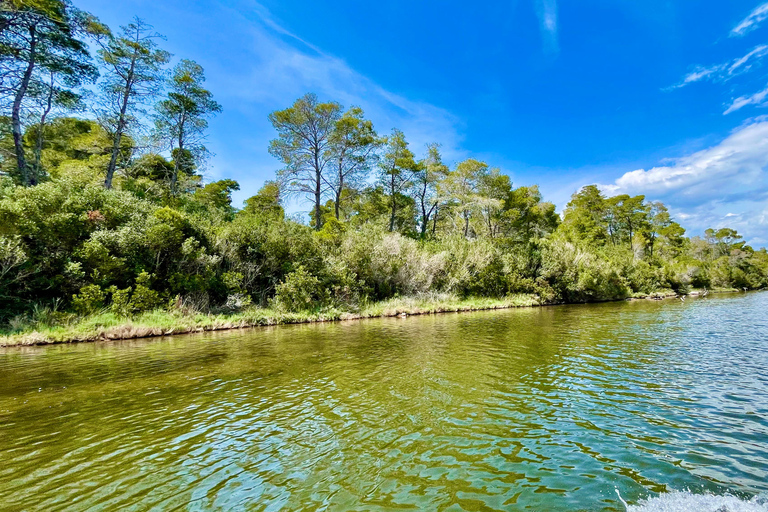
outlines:
[[40, 73], [59, 77], [69, 87], [98, 76], [81, 37], [106, 28], [68, 0], [3, 2], [0, 11], [0, 75], [8, 85], [16, 166], [24, 185], [37, 184], [28, 166], [23, 143], [22, 110]]

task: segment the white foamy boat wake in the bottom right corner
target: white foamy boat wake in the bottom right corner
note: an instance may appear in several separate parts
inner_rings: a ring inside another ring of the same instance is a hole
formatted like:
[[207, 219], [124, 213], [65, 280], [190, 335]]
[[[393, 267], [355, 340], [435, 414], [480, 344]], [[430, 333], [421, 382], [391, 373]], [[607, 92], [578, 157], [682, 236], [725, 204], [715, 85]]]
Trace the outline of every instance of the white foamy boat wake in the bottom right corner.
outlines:
[[768, 512], [768, 495], [765, 494], [747, 501], [728, 495], [671, 492], [640, 500], [637, 505], [627, 505], [623, 499], [621, 501], [627, 512]]

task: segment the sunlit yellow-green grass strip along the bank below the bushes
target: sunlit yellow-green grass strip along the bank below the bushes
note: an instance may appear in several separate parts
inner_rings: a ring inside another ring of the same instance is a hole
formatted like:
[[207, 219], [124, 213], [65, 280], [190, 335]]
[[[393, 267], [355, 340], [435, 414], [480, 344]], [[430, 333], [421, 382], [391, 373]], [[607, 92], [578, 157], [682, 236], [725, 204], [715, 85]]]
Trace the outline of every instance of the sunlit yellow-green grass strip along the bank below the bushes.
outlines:
[[35, 315], [32, 319], [13, 321], [9, 328], [0, 331], [0, 346], [147, 338], [264, 325], [480, 311], [538, 304], [537, 297], [533, 295], [511, 295], [502, 299], [459, 299], [452, 295], [435, 294], [366, 304], [356, 312], [321, 309], [293, 313], [254, 307], [231, 314], [156, 310], [132, 318], [111, 312], [85, 317], [48, 312]]

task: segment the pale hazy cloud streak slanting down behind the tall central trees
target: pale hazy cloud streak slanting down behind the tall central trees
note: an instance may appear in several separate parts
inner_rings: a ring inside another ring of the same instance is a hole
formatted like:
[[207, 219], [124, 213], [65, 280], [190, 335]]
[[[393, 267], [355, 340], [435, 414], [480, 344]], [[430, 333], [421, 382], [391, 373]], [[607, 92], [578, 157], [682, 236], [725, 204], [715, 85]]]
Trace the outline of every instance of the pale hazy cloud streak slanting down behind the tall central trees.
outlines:
[[226, 37], [217, 39], [218, 29], [202, 25], [212, 32], [209, 40], [226, 47], [206, 63], [211, 89], [225, 107], [213, 121], [220, 127], [211, 130], [217, 155], [210, 177], [240, 182], [235, 203], [253, 195], [280, 166], [266, 151], [275, 132], [264, 112], [286, 108], [307, 92], [362, 107], [382, 134], [394, 127], [403, 130], [417, 155], [428, 142], [439, 142], [447, 161], [465, 157], [462, 122], [448, 110], [382, 87], [293, 33], [257, 2], [221, 0], [216, 5], [217, 18], [226, 20]]

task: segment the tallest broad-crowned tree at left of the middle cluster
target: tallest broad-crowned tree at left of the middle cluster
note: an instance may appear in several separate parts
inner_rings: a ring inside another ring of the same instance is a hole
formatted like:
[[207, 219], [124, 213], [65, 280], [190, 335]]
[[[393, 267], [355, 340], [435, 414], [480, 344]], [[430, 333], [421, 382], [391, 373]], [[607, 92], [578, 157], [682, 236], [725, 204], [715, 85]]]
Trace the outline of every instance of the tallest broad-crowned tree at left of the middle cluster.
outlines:
[[269, 144], [269, 153], [285, 164], [278, 177], [289, 192], [313, 199], [318, 231], [323, 227], [321, 207], [329, 182], [327, 167], [334, 159], [331, 137], [340, 112], [338, 103], [320, 103], [310, 93], [291, 107], [269, 114], [278, 134]]

